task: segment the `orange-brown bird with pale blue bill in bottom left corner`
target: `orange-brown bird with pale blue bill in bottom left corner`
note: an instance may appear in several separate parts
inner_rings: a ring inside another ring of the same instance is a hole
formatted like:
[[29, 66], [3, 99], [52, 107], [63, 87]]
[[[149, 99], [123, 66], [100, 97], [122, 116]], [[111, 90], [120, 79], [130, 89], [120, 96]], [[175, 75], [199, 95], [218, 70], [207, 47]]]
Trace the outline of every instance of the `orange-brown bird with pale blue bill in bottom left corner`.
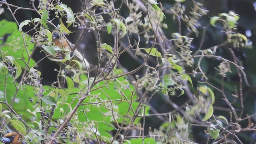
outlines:
[[17, 132], [11, 132], [4, 135], [1, 142], [4, 144], [25, 144], [25, 142], [22, 142], [22, 136]]

